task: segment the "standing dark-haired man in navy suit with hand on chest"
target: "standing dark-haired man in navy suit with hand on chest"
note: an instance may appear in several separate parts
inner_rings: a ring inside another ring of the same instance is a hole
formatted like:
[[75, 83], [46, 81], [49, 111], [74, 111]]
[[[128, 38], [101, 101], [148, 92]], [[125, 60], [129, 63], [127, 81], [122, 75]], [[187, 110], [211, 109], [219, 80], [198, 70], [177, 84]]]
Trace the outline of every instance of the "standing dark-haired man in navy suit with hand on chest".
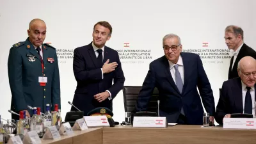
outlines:
[[[93, 42], [74, 50], [73, 70], [77, 88], [73, 104], [84, 111], [84, 115], [99, 107], [112, 111], [112, 100], [124, 86], [118, 52], [105, 45], [111, 33], [108, 22], [97, 22], [93, 28]], [[76, 109], [72, 107], [71, 111]]]

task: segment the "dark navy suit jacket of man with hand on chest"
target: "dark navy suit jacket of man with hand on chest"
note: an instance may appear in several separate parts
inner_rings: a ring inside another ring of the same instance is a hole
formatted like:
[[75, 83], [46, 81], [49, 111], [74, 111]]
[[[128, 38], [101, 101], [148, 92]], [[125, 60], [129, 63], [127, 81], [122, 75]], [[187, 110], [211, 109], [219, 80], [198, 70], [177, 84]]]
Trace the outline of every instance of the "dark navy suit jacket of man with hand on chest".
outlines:
[[[74, 50], [73, 70], [77, 87], [73, 104], [81, 111], [84, 111], [84, 115], [98, 107], [106, 107], [112, 110], [112, 100], [124, 86], [125, 77], [118, 52], [105, 46], [103, 63], [108, 59], [109, 63], [118, 63], [118, 67], [113, 72], [104, 74], [102, 79], [102, 71], [100, 69], [102, 64], [97, 63], [92, 43]], [[112, 84], [112, 82], [114, 83]], [[111, 92], [111, 100], [106, 99], [103, 102], [98, 102], [93, 98], [97, 93], [105, 92], [106, 90]], [[72, 107], [71, 111], [77, 110]]]

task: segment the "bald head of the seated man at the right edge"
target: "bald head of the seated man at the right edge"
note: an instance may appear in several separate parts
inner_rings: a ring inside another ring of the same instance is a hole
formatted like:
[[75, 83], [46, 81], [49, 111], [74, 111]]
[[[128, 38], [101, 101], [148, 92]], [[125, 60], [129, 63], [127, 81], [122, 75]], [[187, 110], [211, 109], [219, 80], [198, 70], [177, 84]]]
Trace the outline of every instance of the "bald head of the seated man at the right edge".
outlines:
[[245, 56], [238, 63], [237, 72], [246, 86], [254, 86], [256, 81], [256, 60], [250, 56]]

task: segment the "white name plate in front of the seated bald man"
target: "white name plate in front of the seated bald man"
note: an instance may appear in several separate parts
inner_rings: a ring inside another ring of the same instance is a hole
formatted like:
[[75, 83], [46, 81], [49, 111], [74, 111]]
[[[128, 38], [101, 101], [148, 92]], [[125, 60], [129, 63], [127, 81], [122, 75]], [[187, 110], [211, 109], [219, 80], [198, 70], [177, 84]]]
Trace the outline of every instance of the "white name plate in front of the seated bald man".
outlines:
[[224, 118], [223, 129], [256, 129], [256, 118]]

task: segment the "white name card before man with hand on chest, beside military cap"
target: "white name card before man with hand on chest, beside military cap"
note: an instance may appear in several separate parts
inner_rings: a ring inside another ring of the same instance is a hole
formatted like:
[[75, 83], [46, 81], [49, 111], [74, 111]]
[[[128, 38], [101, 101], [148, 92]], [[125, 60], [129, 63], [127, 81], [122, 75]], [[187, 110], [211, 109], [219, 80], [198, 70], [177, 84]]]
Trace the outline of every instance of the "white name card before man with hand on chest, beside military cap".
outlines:
[[102, 116], [84, 116], [84, 121], [88, 127], [109, 127], [108, 118]]

